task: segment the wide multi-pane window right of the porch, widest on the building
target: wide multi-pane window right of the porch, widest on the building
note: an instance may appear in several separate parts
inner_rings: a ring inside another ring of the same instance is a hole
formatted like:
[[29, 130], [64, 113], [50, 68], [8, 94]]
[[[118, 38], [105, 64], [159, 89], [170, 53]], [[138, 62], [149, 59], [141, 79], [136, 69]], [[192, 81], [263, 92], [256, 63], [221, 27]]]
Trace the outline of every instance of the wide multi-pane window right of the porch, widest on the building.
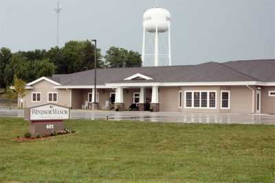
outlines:
[[185, 108], [216, 108], [216, 91], [186, 91]]

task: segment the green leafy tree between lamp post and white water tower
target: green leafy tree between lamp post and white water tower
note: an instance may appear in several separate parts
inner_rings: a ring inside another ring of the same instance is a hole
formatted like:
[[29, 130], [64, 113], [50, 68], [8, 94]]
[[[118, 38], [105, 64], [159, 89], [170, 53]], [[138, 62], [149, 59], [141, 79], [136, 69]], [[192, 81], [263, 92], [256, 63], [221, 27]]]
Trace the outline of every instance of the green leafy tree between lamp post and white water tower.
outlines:
[[128, 51], [119, 47], [110, 47], [106, 53], [104, 58], [108, 67], [142, 66], [141, 55], [136, 51]]

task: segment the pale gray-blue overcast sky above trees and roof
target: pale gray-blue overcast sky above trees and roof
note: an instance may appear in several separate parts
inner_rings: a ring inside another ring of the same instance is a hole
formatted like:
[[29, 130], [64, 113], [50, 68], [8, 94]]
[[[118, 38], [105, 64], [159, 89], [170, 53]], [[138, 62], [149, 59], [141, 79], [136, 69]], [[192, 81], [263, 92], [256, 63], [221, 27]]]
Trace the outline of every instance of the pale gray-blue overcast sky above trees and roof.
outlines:
[[[103, 54], [111, 46], [141, 53], [142, 15], [155, 0], [60, 2], [61, 46], [96, 38]], [[0, 0], [0, 47], [56, 46], [56, 3]], [[159, 0], [159, 6], [171, 14], [173, 65], [275, 58], [274, 0]]]

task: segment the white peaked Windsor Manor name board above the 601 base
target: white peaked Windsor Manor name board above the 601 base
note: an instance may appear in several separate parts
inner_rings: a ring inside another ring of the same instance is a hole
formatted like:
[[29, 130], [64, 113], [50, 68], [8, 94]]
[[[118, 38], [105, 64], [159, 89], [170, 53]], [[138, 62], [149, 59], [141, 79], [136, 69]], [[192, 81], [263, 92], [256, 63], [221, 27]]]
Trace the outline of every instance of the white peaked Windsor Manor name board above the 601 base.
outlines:
[[69, 119], [69, 108], [46, 104], [30, 108], [30, 121]]

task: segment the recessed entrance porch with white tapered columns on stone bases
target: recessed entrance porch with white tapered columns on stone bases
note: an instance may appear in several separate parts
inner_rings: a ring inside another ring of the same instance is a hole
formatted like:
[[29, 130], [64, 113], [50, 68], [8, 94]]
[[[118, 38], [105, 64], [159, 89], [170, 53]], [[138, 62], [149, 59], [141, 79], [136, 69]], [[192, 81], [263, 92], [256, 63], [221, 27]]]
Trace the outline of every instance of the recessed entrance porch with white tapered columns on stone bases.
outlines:
[[[98, 110], [153, 110], [159, 111], [158, 87], [97, 88]], [[71, 90], [72, 109], [92, 109], [94, 88]]]

